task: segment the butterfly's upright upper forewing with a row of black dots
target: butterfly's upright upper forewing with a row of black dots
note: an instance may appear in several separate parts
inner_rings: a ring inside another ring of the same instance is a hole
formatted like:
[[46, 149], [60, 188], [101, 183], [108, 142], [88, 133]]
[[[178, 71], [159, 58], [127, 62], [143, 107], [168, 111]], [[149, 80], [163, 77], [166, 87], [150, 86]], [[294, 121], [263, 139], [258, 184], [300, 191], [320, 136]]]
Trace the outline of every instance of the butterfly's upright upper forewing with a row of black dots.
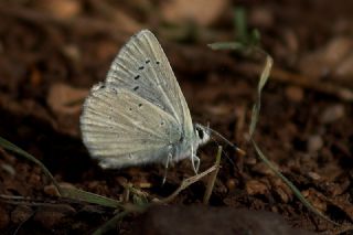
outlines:
[[191, 136], [185, 98], [156, 36], [148, 30], [133, 35], [111, 64], [107, 86], [124, 87], [169, 113]]

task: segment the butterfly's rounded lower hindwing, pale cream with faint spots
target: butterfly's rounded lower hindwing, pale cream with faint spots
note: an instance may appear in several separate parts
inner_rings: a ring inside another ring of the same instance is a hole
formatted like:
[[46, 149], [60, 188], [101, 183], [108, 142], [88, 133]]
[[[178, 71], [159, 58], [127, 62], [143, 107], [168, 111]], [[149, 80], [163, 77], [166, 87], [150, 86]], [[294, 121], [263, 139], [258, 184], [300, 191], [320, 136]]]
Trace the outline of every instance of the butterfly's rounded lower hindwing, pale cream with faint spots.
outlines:
[[81, 128], [103, 168], [161, 161], [181, 138], [175, 119], [127, 89], [96, 85], [84, 104]]

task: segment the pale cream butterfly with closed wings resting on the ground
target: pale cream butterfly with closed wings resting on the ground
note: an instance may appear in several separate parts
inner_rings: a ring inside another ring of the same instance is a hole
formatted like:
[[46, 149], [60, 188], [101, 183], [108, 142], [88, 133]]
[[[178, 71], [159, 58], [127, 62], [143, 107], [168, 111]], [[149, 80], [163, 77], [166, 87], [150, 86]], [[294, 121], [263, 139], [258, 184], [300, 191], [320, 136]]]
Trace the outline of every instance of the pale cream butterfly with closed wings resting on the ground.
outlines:
[[131, 36], [95, 85], [81, 116], [90, 156], [104, 169], [163, 163], [189, 158], [197, 172], [197, 148], [210, 128], [193, 124], [185, 97], [156, 36]]

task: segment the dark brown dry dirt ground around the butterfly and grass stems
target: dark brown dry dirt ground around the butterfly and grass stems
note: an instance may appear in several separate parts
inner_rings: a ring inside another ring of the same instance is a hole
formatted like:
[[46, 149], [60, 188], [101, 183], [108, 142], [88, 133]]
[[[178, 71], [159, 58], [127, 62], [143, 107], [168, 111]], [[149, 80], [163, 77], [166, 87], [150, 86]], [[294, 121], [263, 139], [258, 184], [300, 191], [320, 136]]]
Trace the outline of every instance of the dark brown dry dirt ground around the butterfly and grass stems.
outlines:
[[[35, 156], [66, 186], [126, 197], [170, 195], [194, 175], [190, 161], [101, 170], [82, 143], [79, 115], [89, 88], [105, 79], [120, 46], [141, 29], [162, 44], [194, 121], [211, 125], [246, 151], [225, 147], [213, 194], [207, 179], [170, 203], [128, 213], [109, 234], [350, 234], [310, 212], [261, 161], [248, 141], [263, 60], [213, 51], [239, 35], [246, 12], [275, 66], [263, 94], [255, 140], [320, 212], [353, 218], [353, 4], [350, 1], [0, 2], [0, 136]], [[217, 145], [199, 151], [201, 171]], [[40, 167], [0, 148], [1, 234], [89, 234], [114, 209], [57, 197]]]

